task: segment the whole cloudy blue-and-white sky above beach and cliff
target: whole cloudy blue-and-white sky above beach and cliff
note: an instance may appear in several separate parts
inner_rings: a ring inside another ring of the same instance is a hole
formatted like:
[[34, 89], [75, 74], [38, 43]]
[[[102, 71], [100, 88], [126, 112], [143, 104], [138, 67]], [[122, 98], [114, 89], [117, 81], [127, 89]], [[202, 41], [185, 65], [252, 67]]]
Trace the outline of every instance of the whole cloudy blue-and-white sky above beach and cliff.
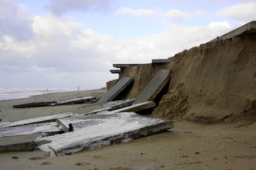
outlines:
[[0, 88], [99, 89], [256, 20], [255, 0], [1, 0]]

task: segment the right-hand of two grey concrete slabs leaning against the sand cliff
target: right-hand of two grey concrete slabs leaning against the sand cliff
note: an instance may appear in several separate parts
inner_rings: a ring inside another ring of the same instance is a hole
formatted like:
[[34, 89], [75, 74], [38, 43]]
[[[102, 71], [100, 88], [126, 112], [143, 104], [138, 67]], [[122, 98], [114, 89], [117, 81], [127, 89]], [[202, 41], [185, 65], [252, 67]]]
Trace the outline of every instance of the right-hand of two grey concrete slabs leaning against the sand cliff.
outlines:
[[171, 69], [162, 69], [150, 81], [146, 88], [141, 92], [140, 96], [134, 101], [134, 104], [140, 104], [146, 101], [152, 101], [163, 87], [170, 81]]

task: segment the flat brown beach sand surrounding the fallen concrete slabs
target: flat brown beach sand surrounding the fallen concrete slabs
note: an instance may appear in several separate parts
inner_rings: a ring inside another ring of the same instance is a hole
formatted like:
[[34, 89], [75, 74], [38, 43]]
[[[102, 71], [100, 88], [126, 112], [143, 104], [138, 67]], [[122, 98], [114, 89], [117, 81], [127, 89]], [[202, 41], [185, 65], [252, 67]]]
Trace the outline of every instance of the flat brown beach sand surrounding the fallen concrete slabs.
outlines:
[[[13, 109], [12, 105], [104, 95], [104, 89], [0, 101], [0, 119], [17, 121], [58, 114], [84, 104]], [[49, 157], [40, 150], [0, 153], [1, 169], [256, 169], [256, 123], [176, 121], [174, 128], [134, 141]], [[68, 140], [68, 139], [67, 139]]]

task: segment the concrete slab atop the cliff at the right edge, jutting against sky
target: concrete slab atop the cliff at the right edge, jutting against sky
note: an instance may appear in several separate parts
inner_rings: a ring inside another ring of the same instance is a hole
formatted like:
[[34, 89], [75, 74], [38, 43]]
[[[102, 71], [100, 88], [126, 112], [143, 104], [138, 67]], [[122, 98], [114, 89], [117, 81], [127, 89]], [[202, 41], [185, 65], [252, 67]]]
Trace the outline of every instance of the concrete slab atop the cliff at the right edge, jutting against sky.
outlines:
[[218, 40], [225, 40], [229, 39], [238, 35], [249, 34], [249, 33], [256, 33], [256, 20], [253, 20], [247, 24], [242, 25], [241, 27], [228, 32], [227, 34], [221, 35], [210, 42], [216, 42]]

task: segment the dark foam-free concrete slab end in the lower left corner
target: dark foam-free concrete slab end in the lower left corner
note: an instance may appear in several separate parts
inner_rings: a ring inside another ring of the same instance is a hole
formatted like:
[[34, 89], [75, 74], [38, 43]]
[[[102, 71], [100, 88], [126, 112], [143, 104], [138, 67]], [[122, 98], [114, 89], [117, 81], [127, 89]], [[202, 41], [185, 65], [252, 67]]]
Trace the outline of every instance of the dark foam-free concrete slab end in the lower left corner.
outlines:
[[8, 136], [0, 138], [0, 152], [32, 151], [36, 147], [36, 138], [39, 135]]

